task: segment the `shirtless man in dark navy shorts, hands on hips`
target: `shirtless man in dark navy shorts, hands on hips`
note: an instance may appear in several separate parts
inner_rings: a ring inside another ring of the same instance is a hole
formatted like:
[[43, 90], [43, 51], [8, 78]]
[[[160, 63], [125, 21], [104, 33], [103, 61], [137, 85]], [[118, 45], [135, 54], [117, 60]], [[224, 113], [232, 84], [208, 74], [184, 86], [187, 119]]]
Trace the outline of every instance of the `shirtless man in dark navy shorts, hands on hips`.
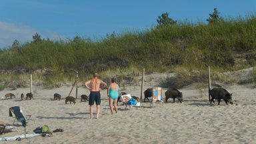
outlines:
[[[99, 77], [98, 73], [93, 73], [93, 79], [90, 79], [89, 81], [85, 82], [85, 87], [87, 87], [87, 89], [89, 89], [89, 91], [91, 91], [91, 93], [89, 95], [90, 119], [93, 118], [94, 101], [96, 103], [96, 108], [97, 108], [97, 117], [96, 118], [99, 119], [99, 110], [100, 110], [100, 105], [101, 105], [101, 93], [99, 93], [101, 91], [101, 88], [99, 87], [99, 85], [101, 85], [101, 83], [102, 83], [103, 85], [105, 85], [105, 87], [107, 87], [107, 83], [104, 83], [104, 81], [102, 81], [98, 77]], [[89, 84], [91, 84], [91, 87], [88, 86]]]

